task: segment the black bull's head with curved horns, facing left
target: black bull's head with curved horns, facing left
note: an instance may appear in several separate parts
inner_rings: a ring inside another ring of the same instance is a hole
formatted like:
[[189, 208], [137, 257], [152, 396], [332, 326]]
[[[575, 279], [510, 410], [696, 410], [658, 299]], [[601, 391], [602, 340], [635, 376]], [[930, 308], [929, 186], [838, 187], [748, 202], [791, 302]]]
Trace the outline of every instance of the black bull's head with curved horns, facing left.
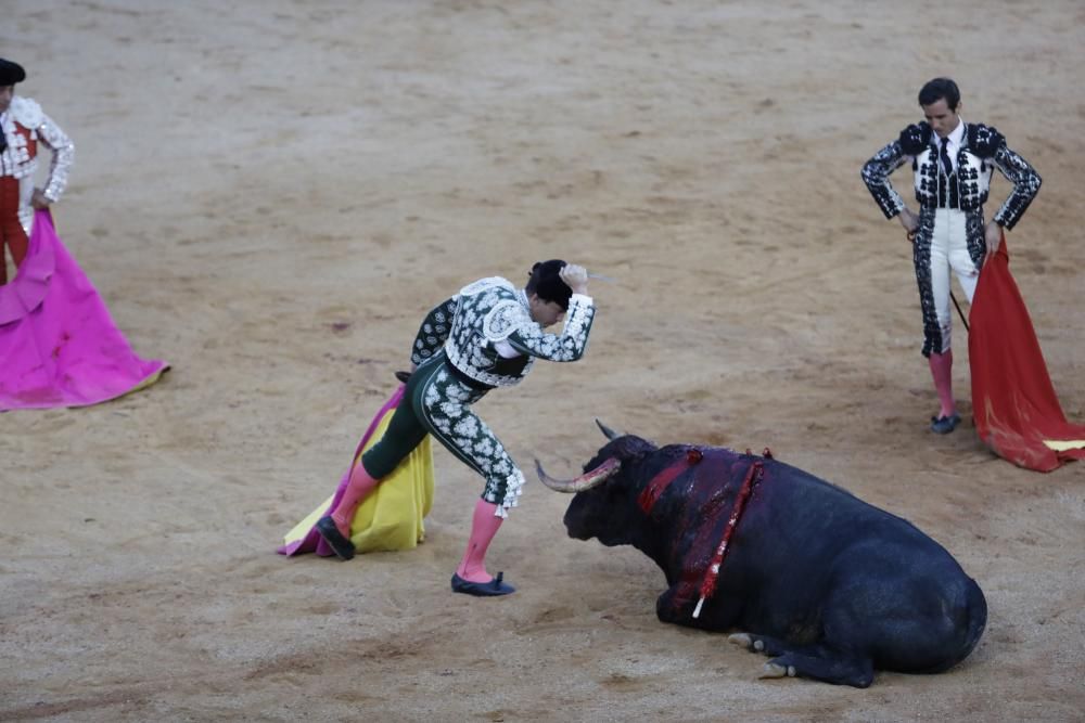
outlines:
[[655, 451], [655, 446], [633, 435], [620, 435], [601, 422], [596, 424], [610, 440], [584, 465], [575, 479], [554, 479], [546, 474], [538, 460], [539, 480], [558, 492], [575, 493], [565, 511], [569, 537], [578, 540], [598, 538], [604, 545], [635, 544], [642, 514], [637, 507], [636, 474], [638, 462]]

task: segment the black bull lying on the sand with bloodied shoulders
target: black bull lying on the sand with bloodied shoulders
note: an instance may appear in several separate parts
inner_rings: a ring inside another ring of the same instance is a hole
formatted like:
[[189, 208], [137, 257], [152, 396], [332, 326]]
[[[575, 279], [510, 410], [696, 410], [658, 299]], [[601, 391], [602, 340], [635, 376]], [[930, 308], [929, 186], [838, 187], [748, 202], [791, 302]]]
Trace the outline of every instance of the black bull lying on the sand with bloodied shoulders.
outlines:
[[[656, 448], [600, 427], [611, 441], [584, 477], [554, 480], [538, 466], [548, 487], [576, 493], [565, 512], [569, 535], [651, 557], [668, 585], [656, 601], [660, 620], [743, 631], [729, 640], [773, 657], [763, 677], [866, 687], [875, 668], [947, 670], [983, 634], [983, 592], [907, 520], [770, 457]], [[694, 618], [746, 480], [751, 492], [715, 588]]]

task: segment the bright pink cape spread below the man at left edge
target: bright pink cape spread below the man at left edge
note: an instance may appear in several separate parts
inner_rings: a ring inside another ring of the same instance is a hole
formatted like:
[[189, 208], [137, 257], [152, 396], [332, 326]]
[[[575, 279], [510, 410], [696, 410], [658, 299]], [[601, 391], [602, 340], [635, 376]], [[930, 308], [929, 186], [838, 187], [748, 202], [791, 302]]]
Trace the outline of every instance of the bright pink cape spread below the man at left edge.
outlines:
[[167, 369], [132, 352], [49, 211], [37, 211], [26, 258], [0, 286], [0, 411], [97, 404]]

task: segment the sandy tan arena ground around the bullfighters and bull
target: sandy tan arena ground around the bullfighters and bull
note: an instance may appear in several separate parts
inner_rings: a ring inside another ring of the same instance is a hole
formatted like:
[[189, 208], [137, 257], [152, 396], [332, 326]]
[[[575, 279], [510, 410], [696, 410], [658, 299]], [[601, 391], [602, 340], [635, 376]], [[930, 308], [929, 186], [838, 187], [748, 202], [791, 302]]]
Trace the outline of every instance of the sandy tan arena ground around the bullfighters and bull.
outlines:
[[[21, 92], [76, 142], [59, 231], [136, 350], [174, 369], [112, 403], [0, 415], [0, 720], [1082, 720], [1085, 467], [1016, 468], [970, 419], [928, 431], [909, 249], [859, 179], [919, 119], [922, 82], [953, 75], [963, 117], [1044, 177], [1011, 268], [1085, 421], [1078, 0], [3, 15]], [[660, 623], [654, 565], [566, 538], [567, 499], [537, 481], [488, 560], [520, 592], [452, 595], [481, 481], [443, 449], [418, 550], [276, 555], [422, 314], [550, 257], [618, 283], [592, 284], [582, 363], [478, 406], [525, 468], [576, 472], [593, 417], [769, 447], [956, 555], [990, 606], [973, 655], [866, 690], [761, 681], [762, 657]]]

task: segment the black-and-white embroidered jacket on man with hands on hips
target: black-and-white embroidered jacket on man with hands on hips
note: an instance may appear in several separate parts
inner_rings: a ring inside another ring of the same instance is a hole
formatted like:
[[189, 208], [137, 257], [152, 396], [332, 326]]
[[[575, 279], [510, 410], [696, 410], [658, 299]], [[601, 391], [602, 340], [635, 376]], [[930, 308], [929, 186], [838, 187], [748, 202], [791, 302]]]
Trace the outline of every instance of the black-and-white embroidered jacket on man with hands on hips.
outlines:
[[980, 210], [987, 201], [992, 171], [997, 168], [1013, 184], [1013, 192], [994, 216], [994, 221], [1007, 230], [1021, 219], [1042, 183], [1036, 170], [1006, 145], [1003, 134], [983, 124], [966, 124], [957, 170], [946, 177], [940, 171], [939, 141], [931, 126], [915, 124], [863, 166], [863, 180], [885, 218], [904, 210], [904, 199], [889, 176], [909, 159], [920, 214], [929, 208]]

